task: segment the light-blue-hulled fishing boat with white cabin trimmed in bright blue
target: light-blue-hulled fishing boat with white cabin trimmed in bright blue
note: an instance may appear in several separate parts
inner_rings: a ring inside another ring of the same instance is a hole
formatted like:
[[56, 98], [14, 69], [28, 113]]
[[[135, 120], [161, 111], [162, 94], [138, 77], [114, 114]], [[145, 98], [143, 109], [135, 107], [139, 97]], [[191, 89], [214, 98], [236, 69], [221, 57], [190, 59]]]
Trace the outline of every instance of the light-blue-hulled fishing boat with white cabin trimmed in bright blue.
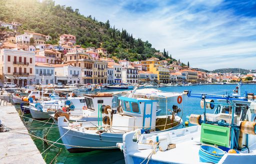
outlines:
[[153, 97], [165, 98], [167, 113], [167, 98], [179, 97], [182, 93], [153, 92], [150, 97], [146, 98], [149, 93], [140, 90], [130, 92], [130, 95], [127, 93], [126, 96], [119, 96], [121, 106], [117, 107], [117, 113], [113, 112], [111, 108], [103, 111], [101, 106], [98, 106], [98, 111], [107, 113], [107, 115], [101, 117], [98, 114], [97, 124], [69, 123], [65, 117], [59, 116], [59, 133], [67, 150], [80, 152], [94, 149], [114, 149], [117, 148], [116, 143], [122, 140], [122, 135], [126, 132], [141, 129], [154, 133], [157, 130], [175, 129], [182, 124], [182, 119], [176, 114], [180, 111], [177, 106], [173, 108], [170, 115], [156, 116], [158, 100], [153, 99]]

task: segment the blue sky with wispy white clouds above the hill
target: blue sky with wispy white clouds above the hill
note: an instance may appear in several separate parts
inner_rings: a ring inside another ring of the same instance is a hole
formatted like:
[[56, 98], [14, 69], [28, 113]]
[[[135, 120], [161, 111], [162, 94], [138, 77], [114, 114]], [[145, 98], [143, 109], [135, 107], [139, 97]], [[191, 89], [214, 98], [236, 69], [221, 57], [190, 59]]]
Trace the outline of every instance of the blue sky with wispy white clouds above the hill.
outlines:
[[55, 0], [207, 70], [256, 69], [256, 0]]

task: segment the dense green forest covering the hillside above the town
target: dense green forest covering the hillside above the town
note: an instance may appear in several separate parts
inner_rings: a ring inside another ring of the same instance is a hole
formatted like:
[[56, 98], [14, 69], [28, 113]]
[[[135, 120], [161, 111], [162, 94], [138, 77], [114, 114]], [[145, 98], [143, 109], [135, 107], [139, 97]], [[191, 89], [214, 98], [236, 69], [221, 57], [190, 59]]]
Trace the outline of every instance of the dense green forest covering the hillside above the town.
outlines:
[[0, 0], [0, 20], [22, 23], [19, 33], [33, 31], [50, 35], [48, 43], [56, 44], [58, 36], [69, 33], [76, 36], [77, 44], [82, 47], [103, 47], [115, 60], [143, 60], [149, 57], [169, 58], [164, 49], [164, 56], [154, 55], [159, 52], [148, 41], [135, 39], [125, 29], [116, 29], [110, 22], [101, 22], [95, 17], [83, 16], [79, 9], [70, 6], [55, 5], [53, 0]]

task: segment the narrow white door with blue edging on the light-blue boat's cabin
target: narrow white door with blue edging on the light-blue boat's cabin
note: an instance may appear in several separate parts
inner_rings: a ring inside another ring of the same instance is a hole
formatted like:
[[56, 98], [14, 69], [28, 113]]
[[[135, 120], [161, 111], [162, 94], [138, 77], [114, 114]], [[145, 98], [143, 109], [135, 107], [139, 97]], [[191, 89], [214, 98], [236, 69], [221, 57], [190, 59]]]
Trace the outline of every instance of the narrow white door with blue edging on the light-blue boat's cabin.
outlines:
[[151, 129], [151, 122], [152, 122], [152, 103], [145, 102], [144, 113], [143, 113], [143, 129], [144, 128]]

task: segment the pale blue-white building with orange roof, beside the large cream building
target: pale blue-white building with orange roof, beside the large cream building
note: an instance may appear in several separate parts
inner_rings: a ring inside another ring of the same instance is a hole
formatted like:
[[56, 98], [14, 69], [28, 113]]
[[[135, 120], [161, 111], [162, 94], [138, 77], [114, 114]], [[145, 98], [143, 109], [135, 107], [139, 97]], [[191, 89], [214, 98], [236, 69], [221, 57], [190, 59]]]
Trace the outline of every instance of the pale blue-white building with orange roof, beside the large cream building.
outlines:
[[[42, 81], [43, 77], [43, 81]], [[53, 84], [54, 83], [54, 64], [36, 62], [35, 63], [35, 83]]]

